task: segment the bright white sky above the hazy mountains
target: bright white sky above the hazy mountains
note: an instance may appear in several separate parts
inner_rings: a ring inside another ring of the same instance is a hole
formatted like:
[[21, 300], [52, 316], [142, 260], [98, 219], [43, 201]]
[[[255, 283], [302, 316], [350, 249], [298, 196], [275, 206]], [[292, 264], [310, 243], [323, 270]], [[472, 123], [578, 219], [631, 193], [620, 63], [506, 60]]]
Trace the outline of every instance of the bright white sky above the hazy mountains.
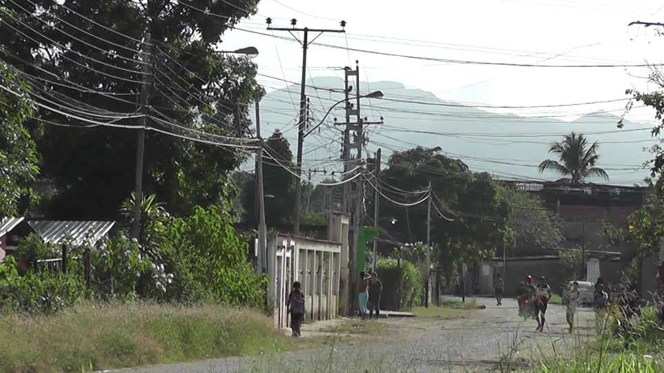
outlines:
[[[535, 65], [605, 65], [664, 62], [664, 38], [657, 28], [627, 26], [631, 21], [664, 21], [661, 1], [615, 0], [465, 0], [407, 3], [378, 0], [261, 0], [257, 15], [243, 20], [225, 36], [223, 50], [255, 46], [259, 73], [299, 82], [302, 48], [288, 32], [273, 27], [340, 28], [316, 41], [341, 47], [398, 55], [463, 61]], [[407, 5], [407, 6], [406, 6]], [[246, 30], [262, 32], [255, 35]], [[297, 35], [297, 34], [296, 34]], [[313, 37], [310, 33], [310, 38]], [[301, 37], [301, 35], [298, 35]], [[551, 68], [485, 66], [389, 57], [366, 52], [310, 46], [307, 77], [342, 77], [342, 66], [360, 63], [362, 81], [393, 81], [419, 88], [441, 99], [491, 105], [534, 106], [597, 102], [624, 98], [627, 88], [652, 89], [645, 68]], [[268, 90], [284, 82], [261, 76]], [[389, 97], [389, 90], [385, 96]], [[403, 97], [400, 97], [403, 98]], [[573, 119], [594, 111], [620, 111], [625, 102], [546, 109]], [[520, 115], [542, 115], [543, 109], [492, 109]], [[619, 113], [618, 113], [619, 114]], [[632, 111], [629, 119], [652, 121], [649, 109]], [[389, 114], [385, 114], [389, 119]], [[614, 129], [614, 124], [607, 123]], [[601, 141], [601, 138], [598, 139]], [[634, 148], [633, 151], [641, 151]]]

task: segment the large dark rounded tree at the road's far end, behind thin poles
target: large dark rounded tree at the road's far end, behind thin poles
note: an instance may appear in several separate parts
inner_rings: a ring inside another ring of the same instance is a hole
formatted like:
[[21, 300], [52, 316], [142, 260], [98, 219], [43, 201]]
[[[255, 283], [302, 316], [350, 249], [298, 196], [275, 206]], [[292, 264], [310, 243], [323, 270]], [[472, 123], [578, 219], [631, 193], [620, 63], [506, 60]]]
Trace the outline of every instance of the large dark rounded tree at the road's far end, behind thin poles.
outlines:
[[[391, 155], [381, 179], [385, 196], [412, 203], [426, 196], [431, 182], [433, 203], [444, 216], [432, 209], [432, 259], [448, 274], [461, 262], [490, 258], [507, 239], [508, 204], [488, 174], [472, 173], [461, 160], [417, 147]], [[425, 240], [426, 203], [403, 207], [387, 201], [380, 211], [390, 217], [379, 221], [381, 234], [398, 242]]]

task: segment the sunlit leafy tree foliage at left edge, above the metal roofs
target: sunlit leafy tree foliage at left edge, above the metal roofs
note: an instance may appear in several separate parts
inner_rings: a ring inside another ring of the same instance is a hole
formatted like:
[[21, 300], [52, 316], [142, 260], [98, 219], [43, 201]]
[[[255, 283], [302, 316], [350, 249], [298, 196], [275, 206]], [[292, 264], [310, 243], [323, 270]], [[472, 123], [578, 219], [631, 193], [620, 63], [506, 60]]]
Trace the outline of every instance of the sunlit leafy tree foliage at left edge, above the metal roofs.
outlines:
[[[25, 124], [33, 115], [30, 87], [0, 61], [0, 219], [16, 216], [28, 182], [39, 174], [37, 149]], [[12, 92], [10, 92], [13, 91]]]

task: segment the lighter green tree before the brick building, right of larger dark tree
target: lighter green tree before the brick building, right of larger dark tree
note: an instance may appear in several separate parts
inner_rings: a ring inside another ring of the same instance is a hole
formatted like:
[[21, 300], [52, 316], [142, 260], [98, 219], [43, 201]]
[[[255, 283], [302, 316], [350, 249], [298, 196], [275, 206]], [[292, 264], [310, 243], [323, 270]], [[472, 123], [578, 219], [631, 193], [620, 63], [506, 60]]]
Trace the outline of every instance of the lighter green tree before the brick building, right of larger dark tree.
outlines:
[[515, 232], [519, 251], [546, 254], [546, 251], [560, 248], [564, 240], [560, 218], [545, 209], [540, 198], [508, 184], [498, 184], [497, 189], [509, 204], [508, 227]]

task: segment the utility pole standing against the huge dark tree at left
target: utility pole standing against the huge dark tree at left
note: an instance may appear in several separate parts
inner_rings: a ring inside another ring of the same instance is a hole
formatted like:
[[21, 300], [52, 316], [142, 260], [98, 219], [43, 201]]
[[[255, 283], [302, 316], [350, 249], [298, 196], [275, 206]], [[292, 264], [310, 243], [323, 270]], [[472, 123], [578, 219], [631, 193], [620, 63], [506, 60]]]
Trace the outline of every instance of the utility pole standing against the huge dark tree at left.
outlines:
[[150, 31], [145, 32], [145, 41], [143, 42], [144, 51], [141, 53], [143, 56], [143, 79], [140, 88], [140, 111], [143, 115], [140, 117], [140, 128], [138, 129], [138, 145], [136, 146], [136, 189], [134, 190], [135, 200], [133, 206], [133, 226], [131, 227], [131, 238], [139, 241], [140, 239], [140, 213], [142, 205], [142, 189], [143, 189], [143, 158], [145, 155], [145, 126], [147, 125], [147, 116], [149, 115], [149, 89], [151, 88], [151, 55], [152, 46], [150, 45], [151, 37]]

